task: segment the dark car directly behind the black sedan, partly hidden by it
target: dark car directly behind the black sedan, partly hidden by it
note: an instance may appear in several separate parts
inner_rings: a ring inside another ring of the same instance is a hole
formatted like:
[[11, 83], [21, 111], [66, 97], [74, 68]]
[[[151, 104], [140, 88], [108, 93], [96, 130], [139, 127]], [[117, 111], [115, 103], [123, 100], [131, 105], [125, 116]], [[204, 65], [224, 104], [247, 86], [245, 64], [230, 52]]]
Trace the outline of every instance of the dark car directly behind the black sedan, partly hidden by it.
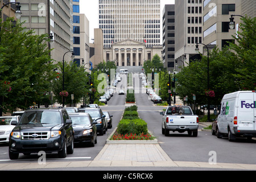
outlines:
[[[100, 108], [90, 108], [86, 107], [83, 109], [79, 109], [79, 113], [88, 113], [94, 119], [97, 120], [97, 132], [100, 133], [100, 135], [104, 135], [107, 130], [107, 125], [105, 122], [105, 115], [102, 113], [102, 110]], [[100, 119], [99, 119], [100, 118]]]

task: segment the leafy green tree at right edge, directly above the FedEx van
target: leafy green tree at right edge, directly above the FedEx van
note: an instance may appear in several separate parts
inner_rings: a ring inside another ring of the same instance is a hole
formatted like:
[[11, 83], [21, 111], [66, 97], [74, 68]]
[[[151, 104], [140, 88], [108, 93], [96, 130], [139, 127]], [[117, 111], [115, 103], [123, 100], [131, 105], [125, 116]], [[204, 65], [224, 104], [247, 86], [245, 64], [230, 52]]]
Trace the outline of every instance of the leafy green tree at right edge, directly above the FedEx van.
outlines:
[[235, 43], [230, 43], [229, 48], [236, 52], [239, 64], [235, 70], [237, 82], [241, 90], [256, 89], [256, 17], [241, 18], [240, 31], [233, 36]]

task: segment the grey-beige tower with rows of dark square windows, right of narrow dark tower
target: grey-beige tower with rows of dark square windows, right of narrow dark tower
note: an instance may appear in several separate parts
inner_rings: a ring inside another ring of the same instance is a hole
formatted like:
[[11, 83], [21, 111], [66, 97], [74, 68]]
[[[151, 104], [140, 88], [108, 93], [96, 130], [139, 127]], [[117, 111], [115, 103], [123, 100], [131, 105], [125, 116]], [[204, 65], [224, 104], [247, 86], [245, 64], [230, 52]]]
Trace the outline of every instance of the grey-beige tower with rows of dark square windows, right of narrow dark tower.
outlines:
[[[199, 59], [196, 43], [203, 43], [203, 0], [175, 0], [175, 67]], [[203, 48], [200, 46], [199, 51]]]

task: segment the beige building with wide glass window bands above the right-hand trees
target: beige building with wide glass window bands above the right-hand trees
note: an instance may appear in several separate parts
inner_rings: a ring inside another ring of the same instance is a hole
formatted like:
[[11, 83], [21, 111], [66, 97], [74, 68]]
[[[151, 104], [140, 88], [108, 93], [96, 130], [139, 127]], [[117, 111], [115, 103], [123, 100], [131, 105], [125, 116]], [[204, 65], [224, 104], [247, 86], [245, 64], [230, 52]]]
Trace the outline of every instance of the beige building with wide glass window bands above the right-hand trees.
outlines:
[[[212, 49], [217, 46], [222, 49], [228, 42], [233, 42], [232, 35], [239, 31], [240, 16], [234, 16], [236, 24], [234, 30], [230, 30], [230, 15], [241, 15], [241, 0], [206, 0], [203, 13], [203, 43]], [[207, 55], [204, 49], [204, 55]], [[203, 53], [203, 52], [202, 52]]]

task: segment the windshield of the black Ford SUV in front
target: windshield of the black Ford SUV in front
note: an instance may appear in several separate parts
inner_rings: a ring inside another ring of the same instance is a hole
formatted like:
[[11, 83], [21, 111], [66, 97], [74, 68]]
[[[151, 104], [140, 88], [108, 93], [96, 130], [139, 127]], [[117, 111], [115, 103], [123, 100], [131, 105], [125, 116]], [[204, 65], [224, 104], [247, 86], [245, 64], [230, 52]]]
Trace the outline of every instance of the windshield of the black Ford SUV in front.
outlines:
[[60, 124], [61, 115], [59, 111], [29, 111], [20, 118], [19, 125], [27, 124]]

